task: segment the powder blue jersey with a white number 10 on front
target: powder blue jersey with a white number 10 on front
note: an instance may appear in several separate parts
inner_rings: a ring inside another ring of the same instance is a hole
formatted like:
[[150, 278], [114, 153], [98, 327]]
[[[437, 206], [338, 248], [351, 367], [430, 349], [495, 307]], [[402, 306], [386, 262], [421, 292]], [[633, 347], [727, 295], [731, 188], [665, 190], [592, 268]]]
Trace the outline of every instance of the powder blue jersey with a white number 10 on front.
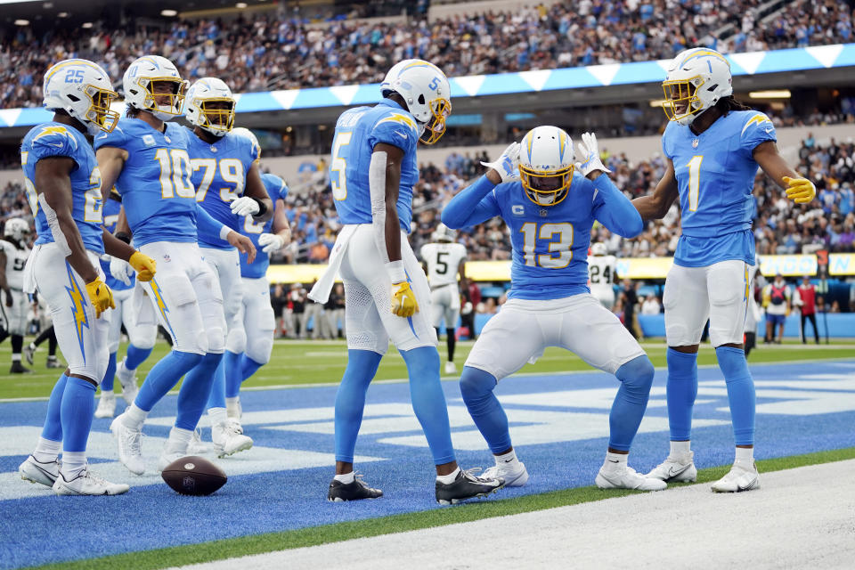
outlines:
[[95, 137], [95, 150], [127, 151], [116, 190], [139, 248], [152, 241], [195, 242], [196, 189], [191, 182], [186, 128], [167, 123], [161, 133], [139, 118], [121, 118], [112, 133]]

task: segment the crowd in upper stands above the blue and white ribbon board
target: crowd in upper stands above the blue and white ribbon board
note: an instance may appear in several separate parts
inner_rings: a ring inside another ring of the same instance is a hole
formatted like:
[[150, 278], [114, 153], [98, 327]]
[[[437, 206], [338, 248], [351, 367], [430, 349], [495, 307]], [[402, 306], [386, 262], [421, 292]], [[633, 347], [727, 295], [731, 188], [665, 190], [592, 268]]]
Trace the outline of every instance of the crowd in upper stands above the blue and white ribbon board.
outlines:
[[[139, 53], [175, 61], [183, 77], [223, 78], [236, 93], [378, 82], [391, 61], [434, 61], [450, 77], [671, 58], [689, 45], [725, 53], [851, 41], [851, 3], [796, 1], [756, 21], [762, 0], [561, 2], [428, 22], [332, 20], [281, 12], [254, 19], [179, 20], [163, 29], [14, 28], [0, 45], [0, 106], [41, 104], [53, 61], [85, 57], [118, 80]], [[726, 39], [716, 37], [727, 27]]]

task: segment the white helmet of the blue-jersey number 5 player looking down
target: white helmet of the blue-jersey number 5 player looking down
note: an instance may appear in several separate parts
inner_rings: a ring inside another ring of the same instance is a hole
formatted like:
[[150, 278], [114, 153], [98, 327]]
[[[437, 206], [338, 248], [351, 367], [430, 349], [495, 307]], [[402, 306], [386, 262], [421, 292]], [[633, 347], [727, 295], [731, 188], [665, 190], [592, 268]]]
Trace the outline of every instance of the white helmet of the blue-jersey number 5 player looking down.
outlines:
[[389, 69], [380, 94], [403, 97], [410, 114], [419, 121], [419, 140], [433, 144], [445, 133], [445, 119], [452, 114], [452, 88], [442, 69], [424, 60], [404, 60]]

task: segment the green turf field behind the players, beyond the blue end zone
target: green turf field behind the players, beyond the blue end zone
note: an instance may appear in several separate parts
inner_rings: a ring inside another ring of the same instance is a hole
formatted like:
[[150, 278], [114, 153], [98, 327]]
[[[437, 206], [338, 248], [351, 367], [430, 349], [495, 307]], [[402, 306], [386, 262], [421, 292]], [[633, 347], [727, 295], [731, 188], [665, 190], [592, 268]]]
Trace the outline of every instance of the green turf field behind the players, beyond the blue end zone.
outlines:
[[[792, 362], [804, 360], [821, 360], [830, 358], [846, 358], [855, 355], [855, 339], [833, 339], [831, 345], [802, 345], [799, 342], [789, 342], [785, 345], [761, 345], [755, 349], [749, 358], [749, 364], [758, 362]], [[462, 367], [467, 354], [472, 349], [471, 341], [460, 342], [457, 345], [455, 362], [458, 369]], [[664, 340], [652, 340], [643, 343], [644, 349], [656, 367], [665, 366]], [[445, 357], [444, 341], [440, 344], [440, 354]], [[146, 362], [143, 362], [137, 379], [142, 382], [145, 374], [159, 358], [166, 354], [169, 346], [159, 342]], [[5, 398], [39, 398], [51, 393], [53, 383], [59, 376], [59, 370], [45, 369], [45, 347], [36, 353], [34, 374], [11, 375], [5, 372], [9, 362], [10, 347], [0, 346], [0, 399]], [[125, 345], [121, 346], [118, 355], [125, 354]], [[244, 383], [244, 387], [282, 387], [299, 384], [338, 383], [345, 370], [347, 349], [343, 340], [277, 340], [273, 346], [271, 362]], [[711, 346], [702, 346], [698, 356], [698, 364], [715, 364], [715, 352]], [[586, 371], [590, 367], [574, 354], [559, 348], [549, 348], [536, 364], [527, 364], [523, 373], [547, 373], [559, 371]], [[389, 354], [383, 359], [377, 374], [377, 379], [404, 379], [406, 368], [403, 359], [390, 348]], [[118, 389], [118, 383], [117, 383]]]

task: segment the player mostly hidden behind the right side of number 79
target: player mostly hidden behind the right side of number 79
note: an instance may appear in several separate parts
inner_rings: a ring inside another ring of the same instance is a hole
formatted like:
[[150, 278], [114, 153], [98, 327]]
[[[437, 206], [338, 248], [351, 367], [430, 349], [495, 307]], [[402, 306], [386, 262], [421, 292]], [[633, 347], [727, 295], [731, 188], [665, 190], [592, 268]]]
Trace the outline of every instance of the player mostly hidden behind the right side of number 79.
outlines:
[[240, 256], [243, 302], [238, 326], [229, 330], [225, 340], [225, 407], [230, 419], [240, 419], [240, 383], [270, 362], [276, 316], [270, 304], [267, 268], [270, 255], [291, 240], [284, 202], [288, 186], [277, 175], [261, 175], [261, 180], [273, 200], [273, 217], [265, 222], [245, 217], [240, 227], [240, 232], [252, 240], [258, 253], [252, 263], [247, 256]]

